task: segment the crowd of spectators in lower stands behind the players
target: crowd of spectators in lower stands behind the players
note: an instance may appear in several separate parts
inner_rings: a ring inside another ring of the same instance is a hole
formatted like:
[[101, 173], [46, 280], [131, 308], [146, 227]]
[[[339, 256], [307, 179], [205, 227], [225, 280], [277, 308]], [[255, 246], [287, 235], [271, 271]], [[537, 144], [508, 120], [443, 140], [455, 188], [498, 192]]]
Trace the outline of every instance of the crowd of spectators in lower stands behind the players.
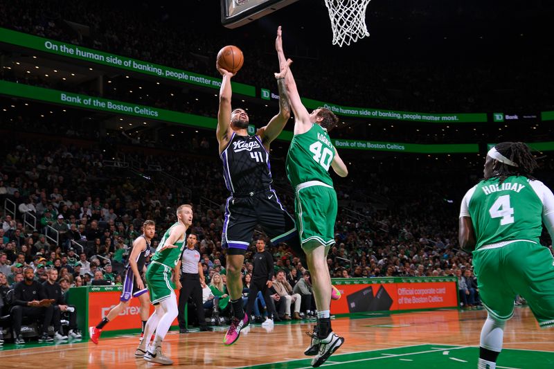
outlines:
[[[160, 235], [175, 222], [175, 206], [189, 203], [195, 210], [190, 231], [198, 237], [204, 275], [211, 285], [204, 303], [209, 307], [211, 296], [216, 296], [216, 310], [225, 313], [228, 296], [221, 231], [227, 192], [215, 155], [188, 157], [184, 152], [176, 155], [159, 150], [154, 156], [145, 155], [140, 148], [127, 153], [127, 160], [157, 165], [181, 179], [182, 186], [150, 177], [147, 170], [139, 176], [108, 165], [98, 141], [69, 145], [46, 136], [43, 140], [24, 137], [18, 136], [17, 142], [5, 138], [2, 143], [0, 201], [9, 200], [0, 227], [3, 296], [25, 280], [26, 269], [42, 282], [48, 281], [51, 270], [57, 271], [56, 280], [63, 290], [119, 284], [129, 246], [141, 233], [144, 220], [157, 223], [152, 241], [155, 249]], [[464, 282], [458, 283], [461, 301], [471, 307], [479, 303], [478, 294], [470, 255], [457, 246], [456, 221], [458, 199], [476, 176], [467, 176], [457, 169], [463, 168], [460, 163], [449, 164], [444, 159], [414, 166], [416, 162], [350, 163], [350, 178], [336, 183], [339, 214], [337, 243], [328, 255], [330, 273], [334, 278], [463, 275]], [[292, 209], [292, 191], [280, 167], [284, 168], [283, 158], [274, 158], [272, 169], [281, 201]], [[408, 183], [405, 170], [409, 170]], [[546, 183], [552, 180], [548, 175], [539, 177]], [[413, 183], [418, 183], [417, 190]], [[386, 206], [374, 206], [372, 195]], [[551, 244], [547, 238], [543, 241]], [[264, 316], [260, 309], [271, 303], [279, 310], [276, 318], [313, 314], [310, 276], [302, 255], [286, 244], [268, 245], [268, 251], [274, 260], [276, 287], [271, 301], [256, 303], [258, 316]], [[247, 251], [245, 276], [253, 269], [254, 252], [254, 247]], [[301, 307], [296, 306], [296, 295], [301, 296]], [[280, 299], [285, 303], [279, 303]]]

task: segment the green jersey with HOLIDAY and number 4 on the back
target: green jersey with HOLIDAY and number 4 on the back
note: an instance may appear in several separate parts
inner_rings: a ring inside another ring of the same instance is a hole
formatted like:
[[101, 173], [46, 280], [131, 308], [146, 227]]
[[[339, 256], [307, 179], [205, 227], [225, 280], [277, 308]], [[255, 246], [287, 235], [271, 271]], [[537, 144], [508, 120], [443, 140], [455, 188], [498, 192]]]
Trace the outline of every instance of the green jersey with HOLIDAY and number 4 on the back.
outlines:
[[497, 242], [539, 242], [542, 200], [526, 177], [508, 177], [503, 183], [498, 178], [483, 180], [464, 201], [475, 229], [476, 250]]

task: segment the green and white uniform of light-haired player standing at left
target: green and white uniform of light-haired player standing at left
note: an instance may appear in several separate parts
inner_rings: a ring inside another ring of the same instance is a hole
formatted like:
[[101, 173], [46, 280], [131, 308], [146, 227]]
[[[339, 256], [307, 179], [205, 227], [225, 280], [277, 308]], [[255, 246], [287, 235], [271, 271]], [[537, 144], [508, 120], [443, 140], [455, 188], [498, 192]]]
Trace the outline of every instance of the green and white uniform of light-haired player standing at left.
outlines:
[[146, 270], [146, 284], [148, 285], [150, 300], [154, 305], [171, 297], [172, 294], [175, 295], [173, 291], [175, 285], [171, 282], [171, 273], [177, 262], [179, 262], [181, 253], [183, 253], [185, 248], [185, 237], [183, 237], [183, 240], [175, 242], [176, 248], [160, 250], [168, 241], [172, 229], [178, 224], [177, 222], [170, 226], [163, 235], [156, 252], [152, 255], [152, 262], [150, 262]]

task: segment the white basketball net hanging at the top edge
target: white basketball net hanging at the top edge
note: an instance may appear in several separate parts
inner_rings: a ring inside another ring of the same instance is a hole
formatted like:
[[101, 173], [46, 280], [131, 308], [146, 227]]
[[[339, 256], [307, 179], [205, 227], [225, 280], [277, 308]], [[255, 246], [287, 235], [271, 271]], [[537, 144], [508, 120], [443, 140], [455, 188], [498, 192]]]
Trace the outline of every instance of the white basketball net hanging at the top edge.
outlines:
[[333, 45], [350, 45], [358, 39], [368, 37], [366, 8], [370, 0], [325, 0], [329, 10]]

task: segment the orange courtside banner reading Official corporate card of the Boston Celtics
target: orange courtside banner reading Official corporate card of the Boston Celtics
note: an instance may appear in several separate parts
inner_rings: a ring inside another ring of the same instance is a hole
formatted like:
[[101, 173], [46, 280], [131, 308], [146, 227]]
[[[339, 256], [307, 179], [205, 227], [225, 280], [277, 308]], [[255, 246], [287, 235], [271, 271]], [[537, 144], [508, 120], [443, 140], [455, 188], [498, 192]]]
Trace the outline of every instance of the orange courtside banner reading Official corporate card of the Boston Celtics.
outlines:
[[[417, 281], [419, 280], [419, 282]], [[458, 307], [456, 278], [339, 278], [331, 314]]]

